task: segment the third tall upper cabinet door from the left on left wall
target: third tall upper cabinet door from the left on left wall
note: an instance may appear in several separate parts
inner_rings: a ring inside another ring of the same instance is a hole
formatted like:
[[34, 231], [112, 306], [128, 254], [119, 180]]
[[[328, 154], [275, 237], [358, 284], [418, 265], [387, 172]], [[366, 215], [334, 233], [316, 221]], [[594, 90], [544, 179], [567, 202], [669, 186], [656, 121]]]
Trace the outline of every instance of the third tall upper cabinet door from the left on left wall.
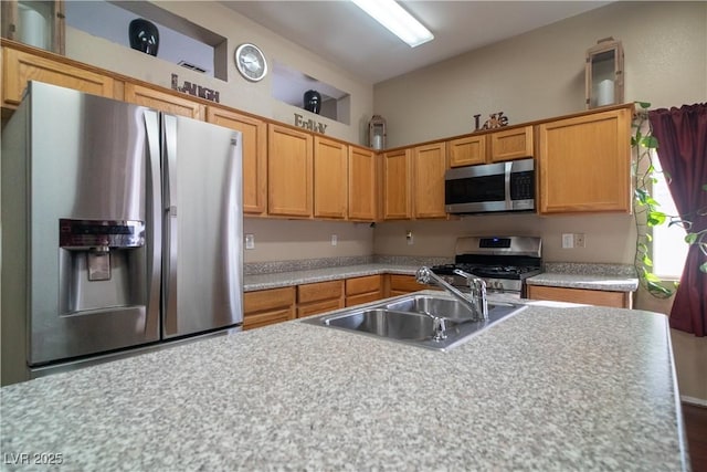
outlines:
[[348, 154], [342, 143], [314, 137], [315, 218], [346, 218]]

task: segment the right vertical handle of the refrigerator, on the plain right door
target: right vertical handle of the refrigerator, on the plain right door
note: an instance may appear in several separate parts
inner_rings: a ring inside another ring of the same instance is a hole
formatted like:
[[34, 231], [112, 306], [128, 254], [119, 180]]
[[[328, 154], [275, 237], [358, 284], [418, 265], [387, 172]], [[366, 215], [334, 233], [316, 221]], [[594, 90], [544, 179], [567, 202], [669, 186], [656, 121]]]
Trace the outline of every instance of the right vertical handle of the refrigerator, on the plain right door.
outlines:
[[163, 156], [162, 169], [165, 174], [165, 258], [162, 271], [165, 274], [163, 294], [163, 334], [177, 333], [177, 117], [162, 114]]

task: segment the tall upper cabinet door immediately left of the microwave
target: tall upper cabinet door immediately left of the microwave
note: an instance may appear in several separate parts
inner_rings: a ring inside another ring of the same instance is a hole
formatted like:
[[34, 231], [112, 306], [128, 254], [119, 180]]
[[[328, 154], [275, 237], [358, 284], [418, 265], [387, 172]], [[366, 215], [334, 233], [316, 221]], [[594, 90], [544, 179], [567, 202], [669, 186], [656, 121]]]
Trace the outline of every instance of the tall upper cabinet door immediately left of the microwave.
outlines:
[[418, 146], [413, 150], [413, 211], [415, 218], [445, 218], [444, 172], [446, 147], [444, 143]]

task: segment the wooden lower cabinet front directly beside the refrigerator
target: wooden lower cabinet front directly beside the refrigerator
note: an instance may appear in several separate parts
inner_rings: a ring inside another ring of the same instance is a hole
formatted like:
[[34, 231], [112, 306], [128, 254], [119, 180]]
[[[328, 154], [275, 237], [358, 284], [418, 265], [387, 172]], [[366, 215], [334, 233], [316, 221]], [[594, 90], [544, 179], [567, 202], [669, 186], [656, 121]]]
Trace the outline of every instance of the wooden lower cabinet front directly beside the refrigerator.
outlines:
[[243, 331], [295, 318], [295, 287], [260, 290], [243, 294]]

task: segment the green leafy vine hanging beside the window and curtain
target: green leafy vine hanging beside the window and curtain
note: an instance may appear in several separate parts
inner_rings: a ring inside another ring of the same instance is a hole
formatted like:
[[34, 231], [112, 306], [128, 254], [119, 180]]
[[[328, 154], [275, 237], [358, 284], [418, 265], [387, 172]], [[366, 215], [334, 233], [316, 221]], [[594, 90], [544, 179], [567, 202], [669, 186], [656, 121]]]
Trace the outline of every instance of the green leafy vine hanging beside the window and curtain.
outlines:
[[[634, 178], [634, 212], [636, 221], [636, 253], [634, 266], [641, 285], [653, 296], [668, 298], [675, 289], [665, 286], [664, 281], [653, 273], [653, 260], [651, 259], [650, 243], [653, 240], [648, 228], [667, 223], [668, 225], [680, 225], [685, 228], [687, 234], [685, 242], [698, 244], [700, 251], [707, 256], [707, 230], [690, 232], [693, 225], [687, 218], [689, 216], [668, 216], [658, 208], [661, 203], [651, 196], [653, 183], [657, 182], [655, 175], [658, 170], [653, 165], [655, 149], [658, 140], [651, 132], [648, 122], [650, 103], [635, 102], [636, 114], [632, 123], [633, 134], [631, 136], [631, 148], [633, 149], [633, 178]], [[669, 176], [665, 176], [669, 185]], [[703, 186], [707, 191], [707, 183]], [[700, 209], [693, 216], [704, 217], [707, 209]], [[707, 273], [707, 262], [699, 266], [701, 272]], [[677, 286], [677, 283], [675, 283]]]

